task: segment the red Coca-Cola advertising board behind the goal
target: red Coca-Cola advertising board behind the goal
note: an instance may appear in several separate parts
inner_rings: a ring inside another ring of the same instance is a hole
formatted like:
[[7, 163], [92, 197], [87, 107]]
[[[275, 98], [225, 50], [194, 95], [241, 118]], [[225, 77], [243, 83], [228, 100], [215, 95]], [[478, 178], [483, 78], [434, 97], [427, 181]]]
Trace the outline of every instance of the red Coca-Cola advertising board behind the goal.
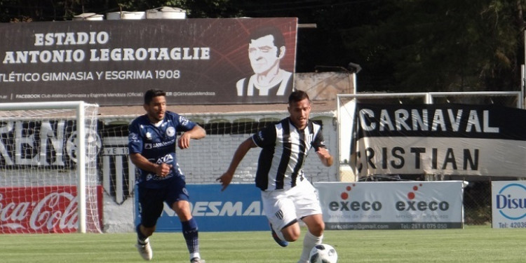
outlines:
[[[102, 225], [102, 187], [97, 187]], [[78, 229], [76, 186], [0, 187], [0, 233], [72, 233]], [[86, 221], [93, 220], [87, 217]]]

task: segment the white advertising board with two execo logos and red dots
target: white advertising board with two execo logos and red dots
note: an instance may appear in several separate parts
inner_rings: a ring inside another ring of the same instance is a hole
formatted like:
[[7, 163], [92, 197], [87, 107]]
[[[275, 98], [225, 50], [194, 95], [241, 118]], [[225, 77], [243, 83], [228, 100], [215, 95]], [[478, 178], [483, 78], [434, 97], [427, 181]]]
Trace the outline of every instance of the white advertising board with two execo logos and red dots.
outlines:
[[314, 186], [326, 229], [464, 226], [461, 181], [316, 182]]

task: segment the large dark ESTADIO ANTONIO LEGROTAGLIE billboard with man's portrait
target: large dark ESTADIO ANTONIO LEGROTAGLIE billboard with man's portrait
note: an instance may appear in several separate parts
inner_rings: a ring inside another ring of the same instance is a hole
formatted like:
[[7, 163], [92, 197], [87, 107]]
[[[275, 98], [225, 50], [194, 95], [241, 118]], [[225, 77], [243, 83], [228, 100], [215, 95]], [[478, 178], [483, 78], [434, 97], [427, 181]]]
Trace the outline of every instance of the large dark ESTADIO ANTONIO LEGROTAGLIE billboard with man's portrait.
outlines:
[[[250, 39], [269, 28], [281, 36]], [[138, 105], [150, 88], [170, 104], [284, 103], [297, 18], [4, 23], [0, 32], [0, 103]]]

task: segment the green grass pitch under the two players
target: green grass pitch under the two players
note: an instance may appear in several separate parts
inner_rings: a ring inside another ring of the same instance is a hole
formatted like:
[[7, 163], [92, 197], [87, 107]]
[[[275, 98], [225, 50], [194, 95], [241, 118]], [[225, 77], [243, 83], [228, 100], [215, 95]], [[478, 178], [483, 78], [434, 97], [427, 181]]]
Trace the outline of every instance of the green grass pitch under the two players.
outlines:
[[[306, 229], [302, 229], [302, 234]], [[297, 262], [302, 238], [281, 248], [267, 231], [201, 232], [208, 263]], [[526, 229], [466, 226], [444, 230], [325, 231], [338, 262], [526, 262]], [[3, 234], [0, 262], [144, 262], [135, 234]], [[180, 233], [151, 237], [151, 262], [189, 262]]]

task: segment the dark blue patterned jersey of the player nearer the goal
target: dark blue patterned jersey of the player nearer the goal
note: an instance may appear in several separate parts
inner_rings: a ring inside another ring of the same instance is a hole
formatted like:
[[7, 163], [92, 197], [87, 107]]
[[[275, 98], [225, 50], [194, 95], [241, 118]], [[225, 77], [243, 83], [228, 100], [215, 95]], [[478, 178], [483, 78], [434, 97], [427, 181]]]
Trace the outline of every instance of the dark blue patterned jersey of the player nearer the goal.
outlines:
[[147, 188], [160, 188], [163, 186], [163, 180], [170, 180], [174, 176], [184, 179], [175, 156], [177, 133], [191, 130], [194, 126], [196, 123], [174, 112], [166, 112], [159, 126], [151, 123], [147, 115], [139, 116], [130, 123], [128, 126], [130, 154], [141, 154], [152, 163], [172, 165], [172, 170], [166, 177], [159, 177], [155, 173], [139, 169], [140, 178], [137, 184]]

